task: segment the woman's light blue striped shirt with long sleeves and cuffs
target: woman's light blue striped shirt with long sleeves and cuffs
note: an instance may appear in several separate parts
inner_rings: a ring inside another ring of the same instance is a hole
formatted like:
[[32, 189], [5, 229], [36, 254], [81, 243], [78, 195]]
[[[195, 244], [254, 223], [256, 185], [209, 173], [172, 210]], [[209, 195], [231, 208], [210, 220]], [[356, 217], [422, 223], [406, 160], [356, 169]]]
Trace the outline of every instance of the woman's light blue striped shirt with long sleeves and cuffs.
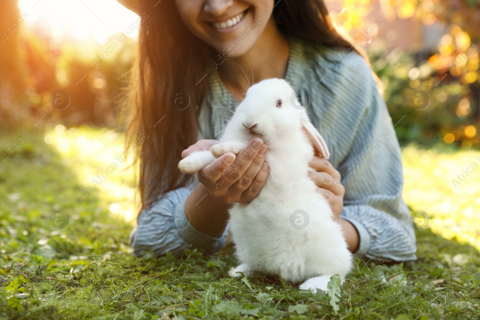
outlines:
[[[392, 120], [371, 69], [358, 54], [290, 38], [285, 79], [300, 95], [312, 124], [325, 139], [331, 164], [345, 187], [341, 218], [358, 230], [356, 257], [386, 261], [416, 260], [415, 230], [402, 199], [400, 147]], [[210, 90], [200, 115], [198, 139], [218, 138], [221, 125], [235, 110], [213, 62], [207, 69]], [[203, 81], [205, 81], [205, 79]], [[135, 255], [156, 255], [202, 247], [218, 251], [226, 242], [188, 223], [184, 205], [191, 186], [163, 195], [142, 212], [130, 242]]]

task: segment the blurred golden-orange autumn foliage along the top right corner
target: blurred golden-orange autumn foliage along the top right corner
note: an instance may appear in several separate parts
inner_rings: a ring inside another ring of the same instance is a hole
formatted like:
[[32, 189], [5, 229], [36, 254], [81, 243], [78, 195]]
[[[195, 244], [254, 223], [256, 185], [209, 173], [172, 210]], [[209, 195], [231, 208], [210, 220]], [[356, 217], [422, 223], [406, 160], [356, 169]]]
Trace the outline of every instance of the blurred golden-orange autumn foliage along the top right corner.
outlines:
[[[372, 9], [371, 0], [344, 0], [341, 12], [334, 13], [336, 23], [352, 37], [364, 32], [366, 16]], [[396, 17], [421, 21], [425, 25], [441, 22], [450, 26], [440, 43], [439, 52], [429, 64], [440, 73], [449, 71], [462, 76], [461, 82], [479, 79], [480, 0], [378, 0], [381, 11], [389, 20]]]

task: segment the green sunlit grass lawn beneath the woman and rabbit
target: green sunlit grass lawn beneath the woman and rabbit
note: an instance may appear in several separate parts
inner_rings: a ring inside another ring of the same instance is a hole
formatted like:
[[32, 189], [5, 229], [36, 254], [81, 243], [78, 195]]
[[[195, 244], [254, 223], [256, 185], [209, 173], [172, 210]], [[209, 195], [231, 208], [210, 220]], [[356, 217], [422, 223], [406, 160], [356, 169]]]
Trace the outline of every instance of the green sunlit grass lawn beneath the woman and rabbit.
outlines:
[[[428, 213], [428, 223], [420, 219], [425, 214], [417, 217], [419, 260], [357, 260], [335, 313], [328, 295], [277, 277], [229, 278], [236, 265], [230, 246], [217, 256], [194, 250], [178, 259], [134, 258], [127, 245], [135, 212], [128, 161], [97, 189], [91, 182], [122, 137], [61, 126], [28, 133], [0, 163], [0, 319], [480, 318], [479, 190], [468, 189], [478, 187], [479, 173], [441, 199], [451, 187], [445, 170], [478, 152], [404, 150], [406, 201]], [[19, 136], [2, 133], [0, 150]], [[432, 173], [436, 168], [443, 176]], [[442, 223], [447, 219], [454, 225]]]

